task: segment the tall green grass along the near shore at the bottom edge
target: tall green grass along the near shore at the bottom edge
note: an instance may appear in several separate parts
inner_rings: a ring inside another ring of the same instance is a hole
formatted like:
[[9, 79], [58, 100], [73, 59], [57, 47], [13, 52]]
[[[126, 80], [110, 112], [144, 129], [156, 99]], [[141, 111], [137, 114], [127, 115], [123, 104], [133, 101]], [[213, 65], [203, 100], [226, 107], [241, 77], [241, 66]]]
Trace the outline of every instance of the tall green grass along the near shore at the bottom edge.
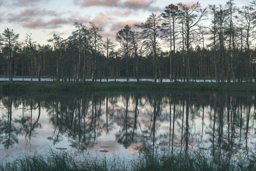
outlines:
[[66, 152], [50, 152], [19, 156], [13, 162], [0, 164], [0, 170], [256, 170], [255, 158], [235, 162], [227, 157], [213, 160], [205, 154], [173, 155], [146, 152], [135, 154], [129, 161], [119, 156], [106, 158], [90, 154], [74, 156]]

